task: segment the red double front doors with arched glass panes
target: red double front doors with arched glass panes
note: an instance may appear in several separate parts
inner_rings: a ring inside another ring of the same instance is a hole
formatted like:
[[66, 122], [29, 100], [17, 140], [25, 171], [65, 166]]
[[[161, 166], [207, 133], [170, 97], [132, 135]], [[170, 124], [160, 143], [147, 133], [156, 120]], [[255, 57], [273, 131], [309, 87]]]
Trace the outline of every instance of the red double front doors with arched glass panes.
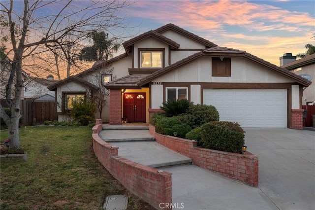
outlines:
[[128, 122], [146, 122], [145, 93], [124, 93], [124, 117]]

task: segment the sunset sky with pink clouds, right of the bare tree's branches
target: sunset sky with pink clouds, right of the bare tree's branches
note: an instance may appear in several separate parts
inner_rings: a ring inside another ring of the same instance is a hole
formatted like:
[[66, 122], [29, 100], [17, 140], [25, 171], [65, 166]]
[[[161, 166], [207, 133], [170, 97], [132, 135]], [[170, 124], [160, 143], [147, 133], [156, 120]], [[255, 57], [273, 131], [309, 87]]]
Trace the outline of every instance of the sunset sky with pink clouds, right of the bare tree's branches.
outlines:
[[138, 34], [173, 23], [277, 66], [284, 53], [315, 44], [314, 0], [136, 0], [125, 10]]

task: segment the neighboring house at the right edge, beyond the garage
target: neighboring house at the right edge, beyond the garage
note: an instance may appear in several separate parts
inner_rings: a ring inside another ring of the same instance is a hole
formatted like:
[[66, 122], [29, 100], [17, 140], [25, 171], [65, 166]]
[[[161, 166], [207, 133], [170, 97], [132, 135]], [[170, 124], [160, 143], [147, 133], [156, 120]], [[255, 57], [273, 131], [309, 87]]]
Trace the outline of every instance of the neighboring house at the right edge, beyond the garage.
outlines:
[[295, 74], [302, 75], [302, 77], [305, 78], [313, 77], [312, 84], [303, 89], [302, 105], [315, 105], [315, 54], [306, 56], [296, 61], [294, 59], [294, 61], [281, 66], [281, 68], [294, 72]]

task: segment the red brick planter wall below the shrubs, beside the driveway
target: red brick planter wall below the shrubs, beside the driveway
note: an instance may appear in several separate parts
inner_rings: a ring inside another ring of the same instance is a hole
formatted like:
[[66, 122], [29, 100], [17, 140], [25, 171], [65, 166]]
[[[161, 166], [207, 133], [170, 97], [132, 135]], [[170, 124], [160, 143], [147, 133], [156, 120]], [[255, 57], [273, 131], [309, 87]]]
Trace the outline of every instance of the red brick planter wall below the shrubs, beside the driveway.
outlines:
[[243, 155], [200, 148], [196, 147], [196, 141], [160, 135], [155, 133], [153, 125], [149, 128], [158, 143], [191, 158], [194, 165], [250, 186], [258, 186], [258, 157], [252, 153], [246, 152]]

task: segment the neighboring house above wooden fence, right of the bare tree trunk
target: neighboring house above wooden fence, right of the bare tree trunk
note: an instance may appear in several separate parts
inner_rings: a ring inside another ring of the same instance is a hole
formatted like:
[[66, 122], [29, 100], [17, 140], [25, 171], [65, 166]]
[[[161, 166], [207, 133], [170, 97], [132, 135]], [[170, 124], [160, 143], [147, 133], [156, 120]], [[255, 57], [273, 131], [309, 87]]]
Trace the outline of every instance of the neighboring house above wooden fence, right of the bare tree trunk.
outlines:
[[24, 99], [34, 100], [46, 94], [55, 97], [55, 91], [50, 91], [47, 87], [57, 81], [51, 74], [46, 79], [29, 76], [24, 82]]

